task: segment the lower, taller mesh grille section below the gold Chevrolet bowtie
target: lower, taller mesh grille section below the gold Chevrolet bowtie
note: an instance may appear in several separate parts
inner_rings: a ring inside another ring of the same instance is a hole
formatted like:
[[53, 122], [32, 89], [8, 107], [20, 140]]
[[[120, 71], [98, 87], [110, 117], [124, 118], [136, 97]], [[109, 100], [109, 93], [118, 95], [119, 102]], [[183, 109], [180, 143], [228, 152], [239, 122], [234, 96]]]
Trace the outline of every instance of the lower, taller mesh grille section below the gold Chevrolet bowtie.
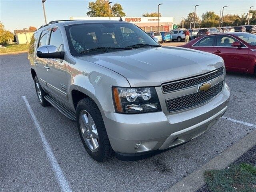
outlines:
[[207, 91], [199, 91], [193, 94], [167, 99], [166, 106], [169, 112], [174, 112], [202, 104], [221, 92], [223, 81], [210, 87]]

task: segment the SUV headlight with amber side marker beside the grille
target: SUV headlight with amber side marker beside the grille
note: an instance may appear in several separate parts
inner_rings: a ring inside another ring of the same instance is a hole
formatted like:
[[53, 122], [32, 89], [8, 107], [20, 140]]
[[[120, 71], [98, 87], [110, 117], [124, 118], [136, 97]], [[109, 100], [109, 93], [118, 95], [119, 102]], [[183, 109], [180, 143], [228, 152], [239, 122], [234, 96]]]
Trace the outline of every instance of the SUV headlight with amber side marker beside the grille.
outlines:
[[154, 87], [112, 87], [113, 100], [118, 113], [145, 113], [161, 111]]

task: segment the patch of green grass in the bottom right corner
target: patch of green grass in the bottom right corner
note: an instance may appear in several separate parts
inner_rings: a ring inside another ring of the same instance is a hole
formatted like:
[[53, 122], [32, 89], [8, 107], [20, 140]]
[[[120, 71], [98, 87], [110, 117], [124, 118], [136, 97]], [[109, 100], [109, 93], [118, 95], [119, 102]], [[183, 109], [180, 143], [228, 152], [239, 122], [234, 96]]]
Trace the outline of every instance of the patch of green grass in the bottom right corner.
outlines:
[[256, 166], [251, 164], [206, 171], [204, 178], [211, 192], [256, 192]]

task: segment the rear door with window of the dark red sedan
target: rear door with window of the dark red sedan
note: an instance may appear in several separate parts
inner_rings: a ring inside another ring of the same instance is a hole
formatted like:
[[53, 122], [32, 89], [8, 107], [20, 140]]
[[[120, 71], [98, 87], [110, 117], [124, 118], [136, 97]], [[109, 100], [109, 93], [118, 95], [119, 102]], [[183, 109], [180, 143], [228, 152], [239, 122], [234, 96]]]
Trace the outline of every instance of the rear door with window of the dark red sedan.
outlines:
[[214, 35], [205, 36], [202, 39], [200, 39], [198, 42], [196, 42], [194, 45], [192, 45], [192, 48], [196, 50], [212, 53], [214, 41], [215, 41]]

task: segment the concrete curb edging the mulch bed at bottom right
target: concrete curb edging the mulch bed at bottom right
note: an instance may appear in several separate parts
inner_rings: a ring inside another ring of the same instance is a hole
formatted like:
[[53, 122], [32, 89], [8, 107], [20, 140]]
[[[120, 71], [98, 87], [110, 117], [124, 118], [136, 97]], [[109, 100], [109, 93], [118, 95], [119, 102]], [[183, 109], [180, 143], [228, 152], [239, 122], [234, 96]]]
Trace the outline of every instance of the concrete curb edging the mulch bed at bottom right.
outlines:
[[205, 184], [203, 173], [206, 170], [220, 170], [226, 168], [242, 154], [256, 145], [256, 130], [224, 150], [221, 154], [180, 180], [166, 192], [194, 192]]

